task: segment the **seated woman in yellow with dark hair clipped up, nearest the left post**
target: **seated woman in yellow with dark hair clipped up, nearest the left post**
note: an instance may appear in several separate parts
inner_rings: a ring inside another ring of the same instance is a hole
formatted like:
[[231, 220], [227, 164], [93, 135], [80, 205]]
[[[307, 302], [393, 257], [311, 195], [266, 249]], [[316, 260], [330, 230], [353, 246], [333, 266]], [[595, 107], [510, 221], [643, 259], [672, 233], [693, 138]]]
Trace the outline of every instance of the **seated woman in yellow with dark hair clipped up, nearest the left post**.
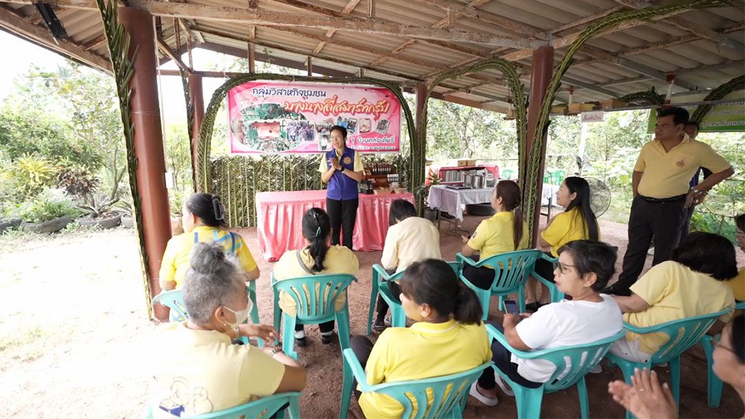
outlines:
[[200, 242], [218, 242], [226, 253], [238, 260], [246, 273], [245, 280], [259, 277], [259, 267], [251, 256], [246, 242], [238, 233], [226, 230], [225, 210], [217, 195], [191, 195], [182, 209], [184, 233], [172, 237], [165, 246], [160, 263], [160, 288], [164, 291], [180, 289], [188, 269], [191, 248]]

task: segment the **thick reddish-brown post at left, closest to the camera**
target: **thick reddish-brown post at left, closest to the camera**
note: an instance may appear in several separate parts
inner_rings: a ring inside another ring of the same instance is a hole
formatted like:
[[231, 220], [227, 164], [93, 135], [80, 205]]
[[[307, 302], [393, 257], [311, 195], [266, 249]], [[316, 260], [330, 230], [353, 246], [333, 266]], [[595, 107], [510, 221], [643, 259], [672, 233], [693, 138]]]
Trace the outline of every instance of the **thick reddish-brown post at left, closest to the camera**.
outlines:
[[[160, 262], [171, 239], [171, 210], [165, 189], [165, 158], [158, 103], [158, 80], [153, 16], [135, 7], [120, 7], [119, 21], [132, 37], [130, 54], [139, 48], [134, 64], [131, 118], [135, 126], [134, 148], [137, 157], [137, 188], [142, 197], [142, 230], [148, 254], [150, 295], [160, 292]], [[155, 306], [155, 316], [168, 320], [168, 309]]]

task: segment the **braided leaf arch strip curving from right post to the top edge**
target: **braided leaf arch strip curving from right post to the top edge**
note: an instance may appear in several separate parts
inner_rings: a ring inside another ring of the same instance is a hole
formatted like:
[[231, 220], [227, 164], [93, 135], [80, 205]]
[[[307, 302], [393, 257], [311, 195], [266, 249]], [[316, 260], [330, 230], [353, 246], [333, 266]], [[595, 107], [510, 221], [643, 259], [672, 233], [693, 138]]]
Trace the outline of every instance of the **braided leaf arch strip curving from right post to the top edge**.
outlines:
[[[541, 104], [536, 130], [533, 136], [533, 147], [530, 150], [530, 165], [528, 166], [529, 172], [527, 174], [527, 183], [525, 183], [524, 191], [524, 194], [526, 195], [523, 204], [526, 206], [525, 217], [527, 218], [531, 232], [534, 227], [533, 221], [537, 198], [536, 189], [539, 182], [539, 169], [543, 155], [542, 151], [546, 147], [545, 139], [546, 133], [548, 132], [548, 116], [549, 113], [551, 113], [551, 104], [554, 102], [554, 98], [556, 98], [559, 86], [561, 85], [561, 79], [569, 69], [569, 66], [571, 66], [573, 61], [572, 57], [574, 57], [577, 50], [597, 34], [624, 22], [632, 20], [650, 20], [656, 16], [665, 16], [668, 13], [673, 13], [679, 10], [703, 9], [724, 5], [726, 5], [726, 0], [682, 0], [659, 6], [645, 7], [644, 9], [639, 10], [619, 11], [606, 16], [603, 20], [594, 25], [590, 25], [582, 31], [580, 36], [577, 37], [577, 40], [574, 40], [574, 42], [569, 45], [554, 72], [554, 77], [551, 78], [551, 82], [548, 84], [548, 89], [546, 90], [546, 94]], [[531, 243], [531, 245], [534, 245], [534, 243]]]

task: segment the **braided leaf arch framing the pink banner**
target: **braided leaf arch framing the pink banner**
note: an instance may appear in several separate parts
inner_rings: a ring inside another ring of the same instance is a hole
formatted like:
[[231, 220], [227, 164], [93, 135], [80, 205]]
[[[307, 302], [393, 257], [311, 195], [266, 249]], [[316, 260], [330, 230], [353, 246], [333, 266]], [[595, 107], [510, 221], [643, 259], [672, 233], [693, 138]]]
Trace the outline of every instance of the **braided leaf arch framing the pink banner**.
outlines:
[[[411, 110], [406, 103], [403, 93], [398, 84], [390, 81], [378, 80], [375, 78], [319, 78], [319, 77], [308, 77], [308, 76], [292, 76], [292, 75], [275, 75], [275, 74], [244, 74], [238, 75], [234, 78], [230, 78], [222, 86], [215, 90], [212, 98], [209, 101], [209, 106], [204, 113], [204, 119], [202, 127], [199, 133], [199, 142], [197, 143], [197, 191], [199, 192], [210, 192], [215, 187], [215, 182], [212, 180], [212, 168], [210, 167], [210, 145], [212, 143], [212, 132], [215, 129], [215, 119], [218, 115], [220, 104], [227, 95], [227, 92], [235, 86], [240, 86], [248, 81], [256, 80], [280, 80], [280, 81], [308, 81], [314, 83], [334, 83], [334, 84], [373, 84], [375, 86], [381, 86], [393, 93], [394, 96], [399, 100], [402, 110], [407, 122], [407, 128], [409, 138], [411, 142], [412, 154], [416, 147], [416, 129], [414, 127], [413, 117]], [[419, 163], [419, 170], [415, 170], [416, 159], [410, 159], [408, 164], [410, 168], [408, 171], [411, 173], [411, 181], [408, 183], [409, 189], [413, 185], [419, 185], [424, 183], [424, 161]], [[317, 163], [316, 163], [317, 164]], [[317, 167], [316, 167], [317, 168]], [[218, 173], [220, 173], [218, 171]], [[255, 181], [254, 181], [255, 183]], [[254, 187], [254, 190], [256, 188]], [[278, 189], [275, 189], [278, 190]]]

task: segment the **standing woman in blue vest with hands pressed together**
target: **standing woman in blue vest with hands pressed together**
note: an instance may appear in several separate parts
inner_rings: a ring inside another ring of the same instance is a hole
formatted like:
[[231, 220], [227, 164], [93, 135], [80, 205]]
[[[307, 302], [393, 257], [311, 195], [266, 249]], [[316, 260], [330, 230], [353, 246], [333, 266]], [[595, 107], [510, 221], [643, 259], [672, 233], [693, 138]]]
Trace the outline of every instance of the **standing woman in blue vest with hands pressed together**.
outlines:
[[318, 171], [326, 190], [326, 212], [331, 218], [331, 244], [339, 244], [339, 230], [343, 231], [341, 244], [352, 250], [352, 233], [355, 231], [357, 207], [360, 203], [358, 182], [362, 180], [364, 166], [360, 154], [346, 148], [346, 128], [331, 127], [332, 151], [323, 155]]

